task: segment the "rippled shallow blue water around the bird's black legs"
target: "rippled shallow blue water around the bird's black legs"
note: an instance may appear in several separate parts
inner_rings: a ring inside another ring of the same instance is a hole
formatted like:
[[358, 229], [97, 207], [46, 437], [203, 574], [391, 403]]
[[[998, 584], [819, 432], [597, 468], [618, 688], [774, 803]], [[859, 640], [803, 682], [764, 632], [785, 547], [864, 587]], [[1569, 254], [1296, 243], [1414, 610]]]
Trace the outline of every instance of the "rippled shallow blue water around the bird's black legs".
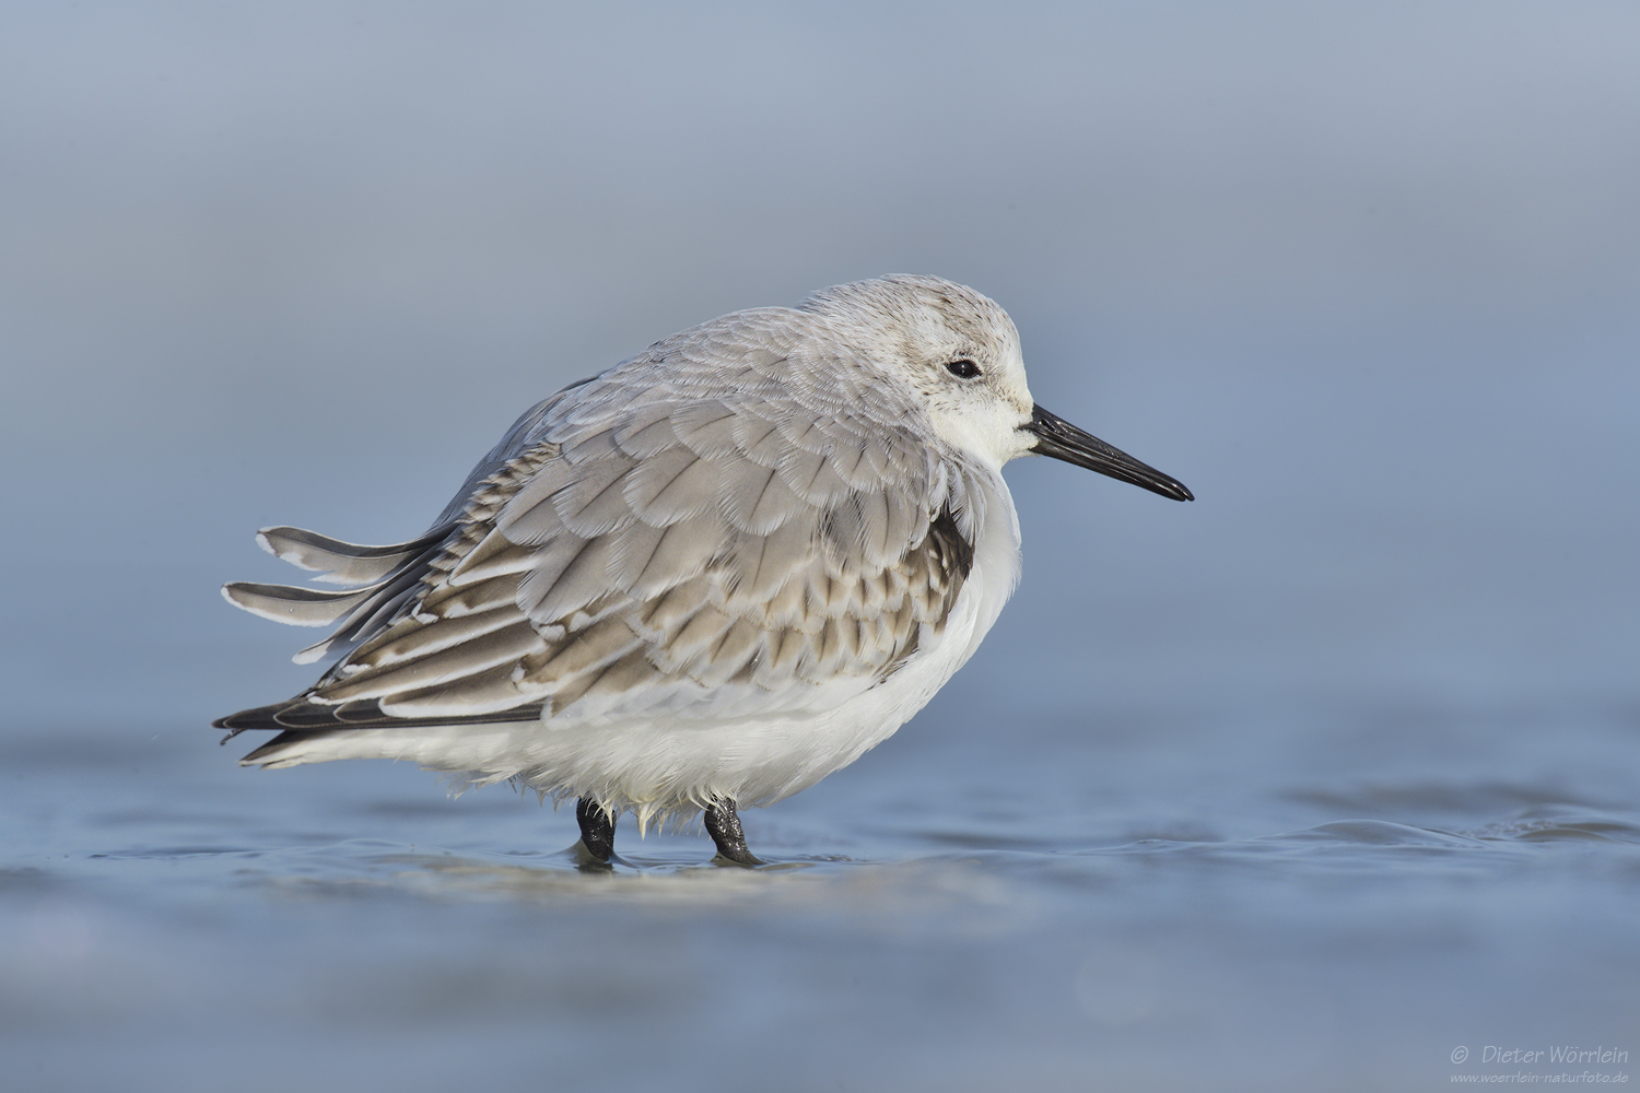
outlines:
[[[505, 787], [241, 770], [182, 732], [13, 744], [7, 1065], [43, 1090], [1414, 1090], [1522, 1070], [1487, 1045], [1640, 1049], [1632, 711], [1128, 721], [1004, 734], [936, 703], [746, 813], [769, 867], [628, 821], [608, 875]], [[1630, 1072], [1524, 1068], [1561, 1070]]]

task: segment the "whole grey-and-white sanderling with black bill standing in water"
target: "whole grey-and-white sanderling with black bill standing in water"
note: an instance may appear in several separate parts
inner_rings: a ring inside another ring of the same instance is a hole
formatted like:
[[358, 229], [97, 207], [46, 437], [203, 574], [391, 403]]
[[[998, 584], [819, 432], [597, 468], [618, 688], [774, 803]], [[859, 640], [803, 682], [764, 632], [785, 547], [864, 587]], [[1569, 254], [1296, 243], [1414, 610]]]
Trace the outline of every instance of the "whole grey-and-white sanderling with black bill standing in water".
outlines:
[[736, 808], [887, 739], [979, 646], [1018, 580], [1015, 456], [1191, 492], [1035, 405], [1018, 331], [938, 277], [725, 315], [538, 403], [431, 529], [257, 542], [312, 587], [230, 583], [262, 618], [331, 626], [308, 690], [216, 721], [279, 729], [241, 764], [408, 759], [461, 785], [577, 798], [577, 854], [615, 821], [704, 823], [759, 864]]

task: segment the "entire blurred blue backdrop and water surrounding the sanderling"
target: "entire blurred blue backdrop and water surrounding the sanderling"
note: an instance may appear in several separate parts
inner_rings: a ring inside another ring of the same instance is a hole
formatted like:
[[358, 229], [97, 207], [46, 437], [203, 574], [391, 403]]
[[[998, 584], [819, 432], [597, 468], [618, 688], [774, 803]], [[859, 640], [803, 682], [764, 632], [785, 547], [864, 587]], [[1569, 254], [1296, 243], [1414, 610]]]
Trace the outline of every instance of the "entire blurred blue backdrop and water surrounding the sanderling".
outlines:
[[[1633, 5], [13, 3], [0, 147], [28, 1088], [1640, 1050]], [[889, 272], [1199, 500], [1010, 469], [981, 654], [746, 818], [848, 862], [594, 891], [533, 798], [212, 747], [312, 678], [256, 528], [407, 539], [563, 383]]]

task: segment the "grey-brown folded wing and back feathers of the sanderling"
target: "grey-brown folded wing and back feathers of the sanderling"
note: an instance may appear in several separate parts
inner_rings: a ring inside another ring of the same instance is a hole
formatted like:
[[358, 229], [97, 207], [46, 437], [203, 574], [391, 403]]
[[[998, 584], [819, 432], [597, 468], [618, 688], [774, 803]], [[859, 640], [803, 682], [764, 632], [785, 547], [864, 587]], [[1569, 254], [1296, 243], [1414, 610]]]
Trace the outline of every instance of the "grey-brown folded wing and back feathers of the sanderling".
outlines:
[[909, 392], [864, 369], [805, 387], [789, 323], [759, 316], [548, 400], [430, 536], [364, 559], [307, 542], [292, 560], [371, 582], [300, 590], [344, 603], [333, 641], [359, 644], [307, 695], [221, 724], [795, 713], [892, 673], [943, 629], [984, 492], [910, 431]]

